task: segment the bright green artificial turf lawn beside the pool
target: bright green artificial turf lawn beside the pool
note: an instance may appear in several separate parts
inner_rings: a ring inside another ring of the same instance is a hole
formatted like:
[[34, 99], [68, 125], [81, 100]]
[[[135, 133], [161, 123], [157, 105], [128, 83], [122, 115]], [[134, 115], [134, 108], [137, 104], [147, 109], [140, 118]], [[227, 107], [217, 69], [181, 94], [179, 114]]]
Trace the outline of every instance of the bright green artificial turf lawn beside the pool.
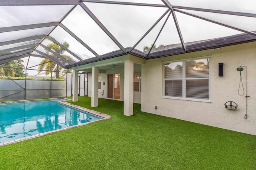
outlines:
[[123, 102], [79, 97], [69, 103], [111, 119], [0, 147], [0, 169], [256, 169], [256, 136], [140, 111]]

